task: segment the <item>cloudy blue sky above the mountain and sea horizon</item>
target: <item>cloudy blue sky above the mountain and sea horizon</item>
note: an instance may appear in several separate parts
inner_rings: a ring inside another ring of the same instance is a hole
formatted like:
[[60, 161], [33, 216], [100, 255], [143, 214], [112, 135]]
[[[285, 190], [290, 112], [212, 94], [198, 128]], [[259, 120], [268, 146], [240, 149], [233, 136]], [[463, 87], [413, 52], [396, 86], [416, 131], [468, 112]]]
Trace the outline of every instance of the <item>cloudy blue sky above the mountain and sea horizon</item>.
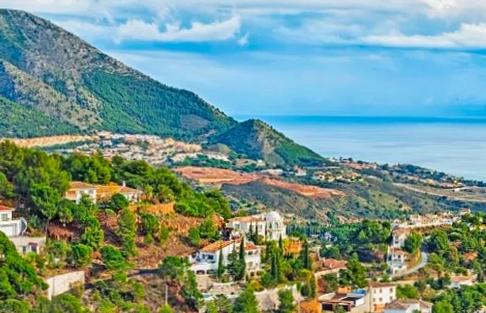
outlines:
[[0, 0], [231, 115], [486, 115], [484, 0]]

